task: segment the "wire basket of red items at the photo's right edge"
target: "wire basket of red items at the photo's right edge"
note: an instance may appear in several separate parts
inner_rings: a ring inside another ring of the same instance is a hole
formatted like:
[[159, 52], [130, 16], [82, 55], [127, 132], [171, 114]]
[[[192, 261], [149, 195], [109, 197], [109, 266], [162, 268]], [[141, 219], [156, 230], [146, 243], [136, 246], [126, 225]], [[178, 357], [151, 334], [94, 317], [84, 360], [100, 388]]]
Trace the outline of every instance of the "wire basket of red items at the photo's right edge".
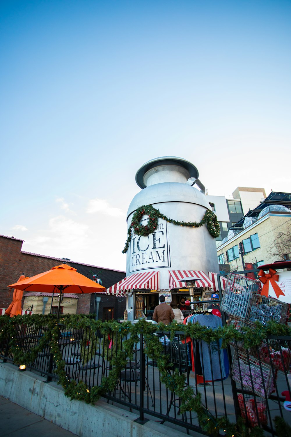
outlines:
[[291, 364], [290, 342], [285, 340], [264, 341], [260, 347], [254, 348], [253, 352], [255, 356], [259, 354], [260, 360], [264, 363], [271, 363], [275, 369], [288, 373]]

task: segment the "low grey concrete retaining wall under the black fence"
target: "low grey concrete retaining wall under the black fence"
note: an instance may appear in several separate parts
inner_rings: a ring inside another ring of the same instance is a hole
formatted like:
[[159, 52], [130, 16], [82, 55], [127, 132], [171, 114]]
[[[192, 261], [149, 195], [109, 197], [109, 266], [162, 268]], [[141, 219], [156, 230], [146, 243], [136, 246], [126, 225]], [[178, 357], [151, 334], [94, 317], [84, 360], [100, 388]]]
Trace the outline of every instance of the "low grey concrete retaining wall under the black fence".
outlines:
[[0, 395], [80, 437], [185, 437], [152, 420], [144, 425], [134, 422], [137, 414], [103, 401], [70, 401], [55, 382], [45, 384], [45, 378], [20, 372], [10, 363], [0, 363]]

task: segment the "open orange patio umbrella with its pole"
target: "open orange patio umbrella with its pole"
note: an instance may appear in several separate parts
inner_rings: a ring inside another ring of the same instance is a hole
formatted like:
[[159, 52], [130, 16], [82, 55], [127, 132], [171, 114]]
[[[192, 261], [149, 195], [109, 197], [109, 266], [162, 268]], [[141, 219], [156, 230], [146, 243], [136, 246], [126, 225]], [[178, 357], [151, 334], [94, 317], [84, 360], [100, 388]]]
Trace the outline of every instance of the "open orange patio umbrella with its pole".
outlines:
[[60, 299], [58, 302], [58, 315], [60, 314], [62, 293], [98, 293], [99, 291], [105, 291], [106, 288], [97, 284], [88, 277], [77, 272], [74, 267], [68, 266], [68, 264], [61, 264], [56, 267], [52, 267], [44, 273], [37, 274], [32, 277], [28, 277], [16, 284], [8, 285], [8, 287], [15, 287], [22, 291], [40, 291], [45, 293], [60, 293]]

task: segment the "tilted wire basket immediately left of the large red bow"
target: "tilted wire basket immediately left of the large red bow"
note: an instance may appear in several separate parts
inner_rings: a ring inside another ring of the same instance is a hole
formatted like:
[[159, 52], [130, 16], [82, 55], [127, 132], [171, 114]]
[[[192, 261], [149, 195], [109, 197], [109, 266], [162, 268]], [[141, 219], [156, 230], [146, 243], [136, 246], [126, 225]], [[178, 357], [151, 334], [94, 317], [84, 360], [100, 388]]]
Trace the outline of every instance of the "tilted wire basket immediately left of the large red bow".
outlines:
[[229, 273], [220, 307], [228, 314], [246, 319], [253, 294], [260, 290], [261, 284], [257, 279]]

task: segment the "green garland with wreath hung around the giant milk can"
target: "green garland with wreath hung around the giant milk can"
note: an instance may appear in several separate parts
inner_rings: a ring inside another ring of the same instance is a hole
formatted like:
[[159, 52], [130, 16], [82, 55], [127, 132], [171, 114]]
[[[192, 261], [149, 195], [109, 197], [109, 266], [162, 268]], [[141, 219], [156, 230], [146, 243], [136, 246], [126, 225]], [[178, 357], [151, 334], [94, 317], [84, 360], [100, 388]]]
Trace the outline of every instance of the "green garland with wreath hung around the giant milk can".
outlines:
[[[140, 225], [140, 219], [143, 215], [148, 216], [146, 225]], [[126, 253], [128, 250], [131, 240], [132, 229], [137, 235], [148, 236], [157, 229], [158, 218], [163, 218], [168, 223], [173, 223], [174, 225], [188, 226], [192, 228], [200, 228], [200, 226], [206, 224], [209, 234], [213, 238], [218, 237], [220, 234], [220, 227], [217, 217], [214, 212], [210, 211], [209, 209], [207, 209], [200, 222], [179, 222], [178, 220], [173, 220], [172, 218], [168, 218], [164, 214], [161, 214], [161, 212], [158, 209], [155, 209], [152, 205], [143, 205], [140, 206], [140, 208], [137, 208], [136, 212], [133, 215], [131, 224], [127, 230], [127, 241], [125, 243], [122, 253]]]

